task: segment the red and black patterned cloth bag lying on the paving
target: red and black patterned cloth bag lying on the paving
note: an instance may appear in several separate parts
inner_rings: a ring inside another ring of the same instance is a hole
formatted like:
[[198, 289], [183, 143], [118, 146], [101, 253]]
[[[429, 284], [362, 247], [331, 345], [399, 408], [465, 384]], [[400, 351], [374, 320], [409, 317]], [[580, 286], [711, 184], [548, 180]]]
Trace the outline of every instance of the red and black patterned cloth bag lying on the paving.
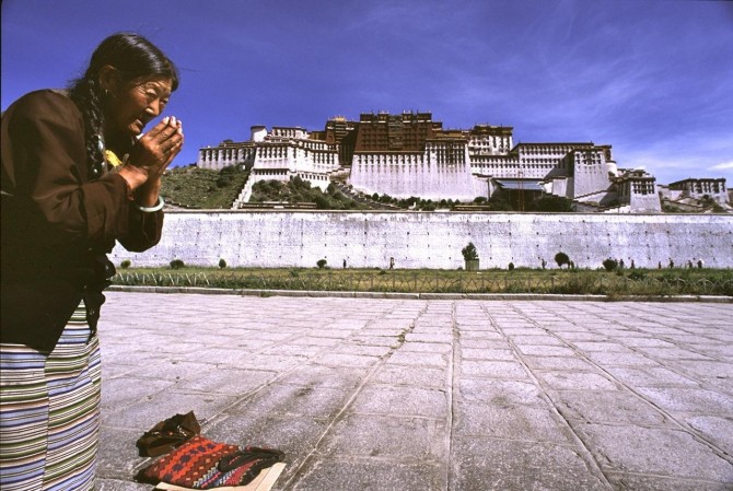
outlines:
[[195, 436], [141, 471], [140, 480], [193, 489], [244, 486], [284, 458], [280, 451], [212, 442]]

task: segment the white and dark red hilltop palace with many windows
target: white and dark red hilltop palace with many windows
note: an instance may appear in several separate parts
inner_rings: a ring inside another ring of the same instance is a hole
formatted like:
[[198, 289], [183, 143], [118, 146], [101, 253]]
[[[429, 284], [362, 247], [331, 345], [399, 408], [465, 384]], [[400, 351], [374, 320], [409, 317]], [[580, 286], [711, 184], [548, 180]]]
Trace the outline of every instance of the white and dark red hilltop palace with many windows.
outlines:
[[326, 189], [394, 198], [470, 202], [502, 191], [523, 210], [544, 195], [565, 197], [577, 211], [660, 212], [713, 200], [730, 210], [724, 178], [689, 178], [667, 186], [640, 169], [621, 168], [609, 144], [513, 142], [513, 128], [476, 125], [444, 129], [431, 113], [364, 113], [358, 121], [336, 117], [321, 131], [253, 126], [248, 141], [225, 140], [199, 150], [197, 165], [251, 171], [232, 208], [246, 206], [258, 180], [299, 176]]

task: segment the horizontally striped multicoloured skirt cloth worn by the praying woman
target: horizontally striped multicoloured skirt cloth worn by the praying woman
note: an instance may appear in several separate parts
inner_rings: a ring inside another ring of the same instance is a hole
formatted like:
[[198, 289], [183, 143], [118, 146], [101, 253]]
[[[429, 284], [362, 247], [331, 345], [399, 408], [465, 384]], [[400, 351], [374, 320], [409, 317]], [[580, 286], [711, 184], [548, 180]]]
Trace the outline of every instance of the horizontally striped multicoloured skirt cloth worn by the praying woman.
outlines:
[[92, 490], [100, 344], [83, 302], [54, 351], [0, 344], [0, 489]]

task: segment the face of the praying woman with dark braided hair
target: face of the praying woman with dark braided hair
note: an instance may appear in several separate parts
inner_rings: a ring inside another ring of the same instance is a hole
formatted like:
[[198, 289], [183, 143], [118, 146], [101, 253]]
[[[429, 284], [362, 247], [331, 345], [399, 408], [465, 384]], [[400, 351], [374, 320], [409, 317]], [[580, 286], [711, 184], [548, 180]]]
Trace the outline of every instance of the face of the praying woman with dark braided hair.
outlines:
[[117, 84], [107, 98], [106, 129], [133, 137], [160, 116], [171, 98], [171, 79], [155, 77]]

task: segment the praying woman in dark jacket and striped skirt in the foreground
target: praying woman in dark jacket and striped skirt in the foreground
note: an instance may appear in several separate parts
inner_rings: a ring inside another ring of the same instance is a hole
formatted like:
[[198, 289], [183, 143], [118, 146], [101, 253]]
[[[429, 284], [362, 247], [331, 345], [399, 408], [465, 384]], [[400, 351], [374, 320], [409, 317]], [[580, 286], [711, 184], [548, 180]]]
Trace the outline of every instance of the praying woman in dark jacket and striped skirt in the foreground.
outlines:
[[160, 241], [161, 176], [183, 127], [164, 118], [178, 86], [142, 36], [115, 34], [66, 91], [2, 115], [0, 488], [91, 490], [100, 429], [102, 291], [116, 241]]

